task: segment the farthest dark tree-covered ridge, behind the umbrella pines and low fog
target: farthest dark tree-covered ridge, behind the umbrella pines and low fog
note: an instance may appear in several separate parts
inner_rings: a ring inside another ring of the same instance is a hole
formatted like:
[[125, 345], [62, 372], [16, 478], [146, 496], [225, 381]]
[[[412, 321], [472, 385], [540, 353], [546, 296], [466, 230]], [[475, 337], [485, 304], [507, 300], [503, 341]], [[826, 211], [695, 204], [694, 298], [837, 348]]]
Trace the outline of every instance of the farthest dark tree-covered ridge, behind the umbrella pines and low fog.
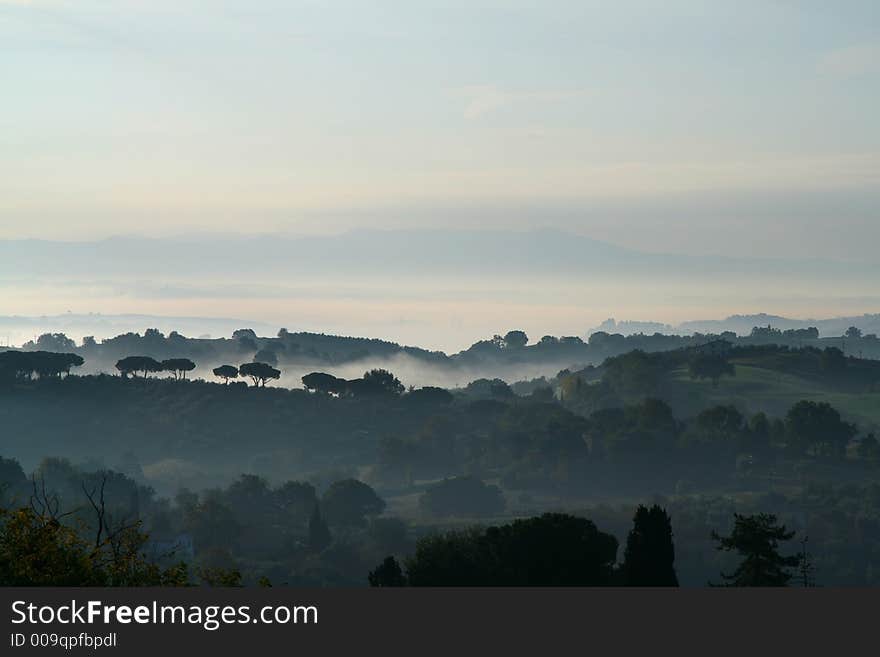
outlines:
[[623, 335], [596, 331], [589, 337], [545, 335], [532, 340], [525, 332], [512, 330], [491, 339], [478, 340], [467, 350], [449, 355], [404, 347], [383, 340], [290, 332], [287, 329], [279, 330], [274, 337], [260, 337], [253, 329], [246, 328], [235, 330], [228, 338], [190, 338], [177, 331], [165, 335], [151, 328], [143, 335], [130, 332], [101, 341], [87, 336], [80, 345], [63, 333], [45, 333], [36, 340], [27, 342], [22, 348], [24, 351], [78, 353], [107, 363], [133, 353], [151, 354], [159, 360], [195, 356], [212, 362], [223, 362], [246, 354], [249, 359], [272, 366], [277, 366], [279, 362], [340, 365], [367, 358], [388, 358], [405, 354], [436, 366], [479, 365], [489, 373], [495, 365], [505, 363], [531, 362], [564, 366], [578, 362], [598, 365], [606, 358], [634, 350], [666, 352], [700, 348], [722, 341], [735, 347], [780, 345], [821, 350], [822, 347], [834, 346], [847, 355], [880, 358], [880, 340], [876, 334], [862, 335], [856, 327], [849, 328], [840, 338], [820, 338], [816, 328], [782, 331], [772, 327], [755, 327], [748, 336], [738, 336], [731, 331], [684, 336], [662, 333]]

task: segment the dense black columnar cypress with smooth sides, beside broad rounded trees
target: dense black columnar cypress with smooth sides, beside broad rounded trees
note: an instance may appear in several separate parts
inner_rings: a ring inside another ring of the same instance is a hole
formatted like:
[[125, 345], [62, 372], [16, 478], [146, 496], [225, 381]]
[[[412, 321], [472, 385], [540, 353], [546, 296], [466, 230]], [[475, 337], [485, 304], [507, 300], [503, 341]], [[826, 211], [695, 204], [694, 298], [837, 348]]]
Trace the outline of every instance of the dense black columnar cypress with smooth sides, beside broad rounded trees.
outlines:
[[656, 504], [636, 509], [621, 570], [626, 586], [678, 586], [672, 522], [665, 509]]

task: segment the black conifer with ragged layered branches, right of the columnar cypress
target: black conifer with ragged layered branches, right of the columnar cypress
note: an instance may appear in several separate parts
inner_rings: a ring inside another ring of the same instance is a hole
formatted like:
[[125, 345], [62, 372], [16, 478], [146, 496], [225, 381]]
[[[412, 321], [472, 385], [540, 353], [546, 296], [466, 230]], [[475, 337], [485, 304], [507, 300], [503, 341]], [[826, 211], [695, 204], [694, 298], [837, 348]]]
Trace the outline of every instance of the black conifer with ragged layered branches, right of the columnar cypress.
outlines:
[[783, 557], [779, 543], [794, 536], [785, 525], [778, 524], [776, 516], [760, 513], [754, 516], [734, 514], [733, 531], [730, 536], [712, 532], [718, 549], [736, 551], [743, 557], [737, 569], [721, 573], [727, 586], [788, 586], [792, 578], [791, 568], [800, 563], [800, 556]]

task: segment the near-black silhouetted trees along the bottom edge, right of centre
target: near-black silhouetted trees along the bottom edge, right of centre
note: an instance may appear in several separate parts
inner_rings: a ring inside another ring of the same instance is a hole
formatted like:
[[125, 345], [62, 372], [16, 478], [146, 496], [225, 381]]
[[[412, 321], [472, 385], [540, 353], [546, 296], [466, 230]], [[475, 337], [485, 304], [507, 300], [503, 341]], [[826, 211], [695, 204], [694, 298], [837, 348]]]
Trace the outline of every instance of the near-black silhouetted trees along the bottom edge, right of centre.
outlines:
[[[740, 561], [708, 586], [814, 586], [804, 547], [784, 555], [789, 531], [772, 514], [734, 514], [732, 531], [712, 532], [720, 551]], [[804, 540], [802, 545], [806, 545]], [[677, 587], [672, 521], [665, 509], [639, 505], [623, 561], [617, 539], [586, 519], [545, 513], [500, 527], [470, 528], [421, 539], [403, 565], [389, 555], [368, 575], [374, 587], [399, 586], [633, 586]]]

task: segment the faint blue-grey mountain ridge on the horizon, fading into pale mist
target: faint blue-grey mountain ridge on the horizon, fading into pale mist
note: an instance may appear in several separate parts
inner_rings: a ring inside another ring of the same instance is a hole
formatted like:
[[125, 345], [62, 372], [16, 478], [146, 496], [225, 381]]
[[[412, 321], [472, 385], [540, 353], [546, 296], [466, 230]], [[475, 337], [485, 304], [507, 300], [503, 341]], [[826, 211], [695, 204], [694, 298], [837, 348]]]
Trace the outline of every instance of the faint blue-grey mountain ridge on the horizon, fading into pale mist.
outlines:
[[635, 251], [558, 230], [357, 230], [330, 236], [0, 240], [0, 278], [400, 273], [880, 276], [880, 265]]

